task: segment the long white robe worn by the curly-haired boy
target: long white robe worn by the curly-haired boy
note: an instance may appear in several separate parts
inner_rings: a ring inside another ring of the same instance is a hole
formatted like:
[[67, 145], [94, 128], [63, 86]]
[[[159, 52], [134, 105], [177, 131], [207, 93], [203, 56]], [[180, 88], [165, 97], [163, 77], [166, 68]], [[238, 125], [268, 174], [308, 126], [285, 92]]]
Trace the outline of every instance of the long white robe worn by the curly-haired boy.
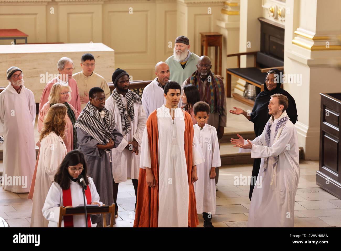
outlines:
[[194, 182], [197, 213], [216, 213], [216, 179], [210, 178], [211, 167], [219, 167], [220, 150], [216, 128], [205, 124], [203, 129], [193, 125], [205, 162], [197, 165], [198, 180]]

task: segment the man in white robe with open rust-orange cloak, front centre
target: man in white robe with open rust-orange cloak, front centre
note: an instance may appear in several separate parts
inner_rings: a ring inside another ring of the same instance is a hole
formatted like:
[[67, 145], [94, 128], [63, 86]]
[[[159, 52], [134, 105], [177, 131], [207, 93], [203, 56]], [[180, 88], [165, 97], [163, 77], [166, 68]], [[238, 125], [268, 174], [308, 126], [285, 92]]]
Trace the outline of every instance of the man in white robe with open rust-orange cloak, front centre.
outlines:
[[[204, 162], [191, 116], [178, 108], [181, 87], [165, 85], [166, 105], [156, 109], [143, 133], [134, 227], [196, 227], [193, 182]], [[172, 115], [170, 114], [172, 113]]]

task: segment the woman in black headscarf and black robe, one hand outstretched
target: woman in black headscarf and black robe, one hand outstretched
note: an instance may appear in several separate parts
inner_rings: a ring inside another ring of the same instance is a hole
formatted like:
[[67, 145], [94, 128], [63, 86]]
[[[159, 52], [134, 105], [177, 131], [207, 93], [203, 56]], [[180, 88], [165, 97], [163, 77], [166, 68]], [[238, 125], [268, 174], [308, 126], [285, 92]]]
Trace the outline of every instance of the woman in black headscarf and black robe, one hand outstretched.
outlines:
[[[276, 75], [277, 74], [277, 75]], [[297, 121], [297, 109], [294, 98], [285, 90], [281, 89], [282, 79], [280, 79], [279, 83], [276, 83], [276, 76], [280, 76], [280, 71], [278, 69], [271, 69], [267, 72], [265, 80], [264, 80], [264, 91], [260, 92], [255, 100], [255, 103], [252, 108], [252, 113], [248, 115], [246, 111], [241, 108], [233, 107], [235, 110], [229, 110], [232, 114], [243, 114], [248, 120], [253, 122], [253, 128], [255, 131], [256, 137], [262, 134], [266, 122], [268, 122], [269, 108], [268, 104], [270, 101], [270, 96], [275, 93], [280, 93], [285, 95], [289, 100], [288, 108], [286, 109], [286, 113], [288, 114], [291, 122], [293, 124]], [[262, 159], [254, 159], [253, 168], [252, 168], [252, 177], [257, 177], [261, 165]], [[254, 179], [252, 179], [254, 180]], [[254, 188], [254, 183], [250, 186], [249, 198], [251, 200], [252, 191]]]

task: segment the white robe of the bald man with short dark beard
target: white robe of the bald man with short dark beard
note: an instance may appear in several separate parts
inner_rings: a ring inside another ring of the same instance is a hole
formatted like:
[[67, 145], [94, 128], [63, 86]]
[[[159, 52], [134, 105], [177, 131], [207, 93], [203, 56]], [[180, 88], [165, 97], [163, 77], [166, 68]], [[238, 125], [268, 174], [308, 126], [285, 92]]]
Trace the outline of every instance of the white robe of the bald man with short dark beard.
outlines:
[[[149, 83], [142, 92], [142, 105], [145, 109], [147, 118], [149, 114], [154, 112], [157, 108], [160, 108], [162, 105], [166, 104], [166, 99], [164, 98], [164, 90], [159, 86], [159, 82], [157, 81], [157, 77]], [[170, 80], [169, 80], [170, 81]], [[178, 107], [181, 107], [181, 99], [178, 104]]]

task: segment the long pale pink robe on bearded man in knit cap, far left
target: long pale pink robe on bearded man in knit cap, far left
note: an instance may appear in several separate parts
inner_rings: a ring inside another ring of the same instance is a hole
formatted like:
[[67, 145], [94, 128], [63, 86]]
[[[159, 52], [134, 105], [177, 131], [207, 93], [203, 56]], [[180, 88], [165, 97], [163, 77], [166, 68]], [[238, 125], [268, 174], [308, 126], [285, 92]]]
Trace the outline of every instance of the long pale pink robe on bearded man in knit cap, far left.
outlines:
[[[21, 87], [20, 93], [17, 93], [9, 84], [0, 93], [0, 128], [2, 129], [0, 135], [4, 136], [3, 185], [6, 191], [14, 193], [30, 191], [35, 167], [35, 115], [33, 92], [25, 86]], [[18, 179], [19, 177], [21, 178]], [[16, 186], [13, 186], [15, 184]]]

